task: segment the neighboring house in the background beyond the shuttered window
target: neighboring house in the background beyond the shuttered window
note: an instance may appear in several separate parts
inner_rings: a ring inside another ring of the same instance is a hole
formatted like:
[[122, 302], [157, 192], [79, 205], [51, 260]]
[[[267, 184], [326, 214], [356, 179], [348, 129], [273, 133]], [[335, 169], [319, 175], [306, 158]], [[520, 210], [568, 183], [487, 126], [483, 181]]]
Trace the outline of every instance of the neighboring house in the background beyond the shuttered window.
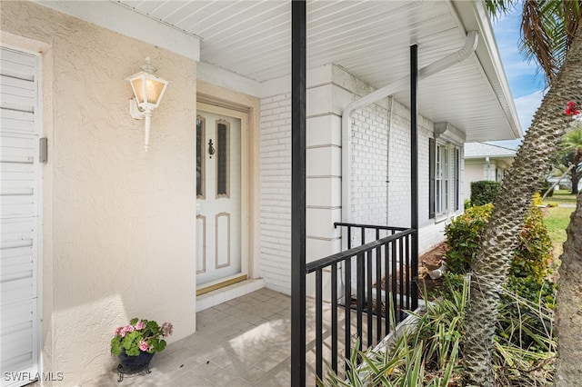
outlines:
[[501, 182], [517, 151], [497, 144], [465, 144], [465, 200], [471, 199], [471, 183]]

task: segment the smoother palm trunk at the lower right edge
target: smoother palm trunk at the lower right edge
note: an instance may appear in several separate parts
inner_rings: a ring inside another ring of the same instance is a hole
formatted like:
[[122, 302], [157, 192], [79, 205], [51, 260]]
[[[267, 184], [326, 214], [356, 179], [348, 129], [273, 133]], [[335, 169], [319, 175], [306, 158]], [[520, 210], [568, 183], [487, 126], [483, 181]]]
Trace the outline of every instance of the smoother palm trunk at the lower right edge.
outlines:
[[582, 195], [567, 226], [567, 241], [560, 257], [556, 328], [557, 363], [554, 385], [569, 387], [582, 381]]

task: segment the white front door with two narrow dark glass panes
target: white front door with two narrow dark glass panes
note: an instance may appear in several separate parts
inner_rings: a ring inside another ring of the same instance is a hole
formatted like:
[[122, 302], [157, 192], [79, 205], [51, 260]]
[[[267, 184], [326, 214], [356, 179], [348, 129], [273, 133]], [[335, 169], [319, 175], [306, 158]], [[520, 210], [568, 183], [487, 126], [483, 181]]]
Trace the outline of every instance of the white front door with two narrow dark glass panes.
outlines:
[[246, 278], [242, 232], [247, 115], [198, 104], [196, 119], [196, 287]]

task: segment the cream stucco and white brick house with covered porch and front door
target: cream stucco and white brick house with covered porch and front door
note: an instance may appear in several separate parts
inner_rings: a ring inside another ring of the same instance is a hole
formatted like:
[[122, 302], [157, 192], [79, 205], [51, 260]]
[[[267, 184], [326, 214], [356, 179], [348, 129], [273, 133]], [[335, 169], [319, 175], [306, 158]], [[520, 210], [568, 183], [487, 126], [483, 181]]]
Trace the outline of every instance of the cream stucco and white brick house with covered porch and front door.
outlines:
[[[131, 317], [176, 341], [203, 308], [290, 293], [290, 2], [1, 7], [3, 372], [81, 384]], [[308, 2], [306, 40], [308, 260], [341, 249], [334, 222], [410, 226], [415, 44], [426, 251], [463, 211], [464, 144], [521, 136], [484, 5]], [[148, 152], [125, 81], [146, 56], [169, 81]]]

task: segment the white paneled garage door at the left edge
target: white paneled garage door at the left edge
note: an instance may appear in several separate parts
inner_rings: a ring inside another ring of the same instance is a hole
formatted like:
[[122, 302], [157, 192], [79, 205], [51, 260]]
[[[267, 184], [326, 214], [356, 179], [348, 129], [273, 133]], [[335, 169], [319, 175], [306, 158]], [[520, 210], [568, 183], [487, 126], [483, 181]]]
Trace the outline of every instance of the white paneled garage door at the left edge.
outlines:
[[0, 362], [13, 387], [38, 372], [39, 72], [35, 55], [0, 50]]

